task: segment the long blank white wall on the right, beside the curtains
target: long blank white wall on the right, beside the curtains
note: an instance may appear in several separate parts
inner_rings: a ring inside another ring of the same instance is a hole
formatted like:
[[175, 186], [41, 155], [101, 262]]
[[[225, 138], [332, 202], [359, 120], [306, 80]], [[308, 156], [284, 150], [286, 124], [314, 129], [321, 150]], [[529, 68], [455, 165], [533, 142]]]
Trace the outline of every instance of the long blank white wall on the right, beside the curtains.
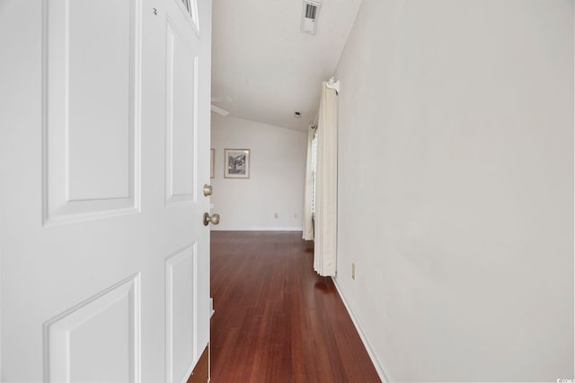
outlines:
[[364, 0], [337, 77], [337, 283], [389, 379], [573, 379], [573, 2]]

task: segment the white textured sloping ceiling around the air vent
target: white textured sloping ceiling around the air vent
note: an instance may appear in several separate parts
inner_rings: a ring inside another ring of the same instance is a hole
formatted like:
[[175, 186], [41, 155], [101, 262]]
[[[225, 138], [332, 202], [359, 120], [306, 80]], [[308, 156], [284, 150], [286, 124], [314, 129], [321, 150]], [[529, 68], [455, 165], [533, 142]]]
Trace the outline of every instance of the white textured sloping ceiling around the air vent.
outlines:
[[303, 0], [214, 0], [212, 96], [232, 99], [214, 105], [237, 118], [306, 130], [361, 0], [320, 3], [310, 35], [300, 29]]

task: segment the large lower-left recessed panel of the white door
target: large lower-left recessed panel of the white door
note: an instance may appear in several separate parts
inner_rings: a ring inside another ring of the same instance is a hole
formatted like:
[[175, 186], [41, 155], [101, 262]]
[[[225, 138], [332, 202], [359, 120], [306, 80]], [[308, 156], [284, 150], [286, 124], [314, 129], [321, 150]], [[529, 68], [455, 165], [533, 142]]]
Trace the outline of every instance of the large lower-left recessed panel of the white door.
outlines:
[[139, 379], [139, 283], [130, 277], [47, 323], [49, 381]]

